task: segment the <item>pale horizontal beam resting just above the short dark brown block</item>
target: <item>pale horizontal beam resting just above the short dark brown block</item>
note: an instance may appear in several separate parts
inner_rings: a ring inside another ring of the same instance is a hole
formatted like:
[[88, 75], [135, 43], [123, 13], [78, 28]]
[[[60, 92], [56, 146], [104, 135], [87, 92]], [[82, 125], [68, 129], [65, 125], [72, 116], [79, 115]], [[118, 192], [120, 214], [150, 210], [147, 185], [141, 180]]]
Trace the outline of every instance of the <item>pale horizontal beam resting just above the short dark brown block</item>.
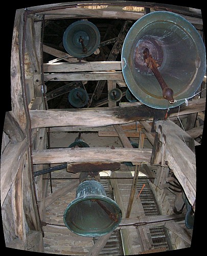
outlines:
[[147, 148], [52, 148], [33, 151], [33, 164], [66, 162], [144, 162], [149, 163], [152, 150]]

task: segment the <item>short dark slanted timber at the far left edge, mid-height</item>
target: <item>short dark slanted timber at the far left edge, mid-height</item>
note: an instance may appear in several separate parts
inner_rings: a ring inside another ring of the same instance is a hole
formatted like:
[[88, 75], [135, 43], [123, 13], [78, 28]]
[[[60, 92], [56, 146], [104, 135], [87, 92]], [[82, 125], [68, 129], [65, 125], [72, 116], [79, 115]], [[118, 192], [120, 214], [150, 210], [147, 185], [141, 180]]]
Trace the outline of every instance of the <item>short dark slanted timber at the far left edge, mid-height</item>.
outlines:
[[4, 121], [4, 132], [8, 135], [12, 143], [21, 142], [25, 139], [26, 134], [12, 115], [12, 111], [6, 112]]

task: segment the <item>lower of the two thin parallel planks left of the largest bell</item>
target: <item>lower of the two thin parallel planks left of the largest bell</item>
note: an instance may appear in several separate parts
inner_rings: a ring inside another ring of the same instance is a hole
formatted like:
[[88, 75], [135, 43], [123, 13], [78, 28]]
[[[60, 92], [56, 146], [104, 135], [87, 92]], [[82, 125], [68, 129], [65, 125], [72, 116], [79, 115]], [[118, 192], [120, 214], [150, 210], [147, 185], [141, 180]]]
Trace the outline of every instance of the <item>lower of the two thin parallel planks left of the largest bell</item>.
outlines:
[[113, 72], [77, 72], [77, 73], [55, 73], [44, 74], [44, 81], [57, 78], [58, 81], [100, 81], [100, 80], [117, 80], [124, 79], [121, 71]]

